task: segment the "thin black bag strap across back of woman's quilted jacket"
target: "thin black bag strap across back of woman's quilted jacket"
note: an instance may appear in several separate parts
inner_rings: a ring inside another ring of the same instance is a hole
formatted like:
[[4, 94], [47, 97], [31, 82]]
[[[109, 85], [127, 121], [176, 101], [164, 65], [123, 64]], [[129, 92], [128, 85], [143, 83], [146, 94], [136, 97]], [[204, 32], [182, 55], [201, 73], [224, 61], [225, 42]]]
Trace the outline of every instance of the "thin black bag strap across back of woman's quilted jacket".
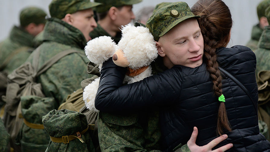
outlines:
[[233, 75], [231, 75], [229, 72], [227, 72], [226, 70], [224, 70], [221, 67], [218, 67], [219, 70], [225, 74], [226, 76], [228, 76], [231, 80], [233, 80], [233, 82], [235, 82], [244, 92], [246, 92], [246, 94], [249, 96], [250, 100], [253, 102], [253, 105], [255, 107], [257, 116], [258, 116], [258, 107], [256, 106], [256, 102], [254, 101], [254, 99], [252, 98], [252, 95], [250, 94], [250, 92], [246, 89], [246, 87], [243, 85], [243, 83], [241, 83], [238, 79], [236, 79]]

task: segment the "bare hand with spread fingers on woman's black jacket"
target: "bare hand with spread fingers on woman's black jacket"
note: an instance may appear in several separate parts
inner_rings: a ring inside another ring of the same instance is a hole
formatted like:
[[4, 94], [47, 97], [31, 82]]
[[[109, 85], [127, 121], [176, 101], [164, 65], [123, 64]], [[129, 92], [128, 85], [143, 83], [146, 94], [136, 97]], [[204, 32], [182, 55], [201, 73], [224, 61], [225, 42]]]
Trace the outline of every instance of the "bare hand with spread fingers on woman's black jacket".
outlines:
[[197, 127], [194, 127], [192, 135], [191, 135], [189, 141], [187, 142], [187, 146], [189, 147], [191, 152], [224, 152], [224, 151], [230, 149], [231, 147], [233, 147], [233, 144], [230, 143], [230, 144], [226, 144], [222, 147], [219, 147], [218, 149], [212, 150], [212, 148], [214, 148], [217, 144], [219, 144], [221, 141], [224, 141], [226, 138], [228, 138], [228, 135], [222, 135], [218, 138], [215, 138], [214, 140], [209, 142], [207, 145], [198, 146], [195, 143], [197, 135], [198, 135], [198, 129], [197, 129]]

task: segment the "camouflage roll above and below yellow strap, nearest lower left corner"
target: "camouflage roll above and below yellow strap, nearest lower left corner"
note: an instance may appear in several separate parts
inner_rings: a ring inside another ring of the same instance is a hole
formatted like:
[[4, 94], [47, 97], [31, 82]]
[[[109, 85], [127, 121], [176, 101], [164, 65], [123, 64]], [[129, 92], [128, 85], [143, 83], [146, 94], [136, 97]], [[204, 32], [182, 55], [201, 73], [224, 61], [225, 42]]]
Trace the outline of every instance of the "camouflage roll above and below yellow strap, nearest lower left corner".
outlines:
[[[21, 97], [22, 116], [29, 123], [42, 125], [42, 116], [55, 108], [57, 104], [53, 98]], [[17, 140], [21, 143], [22, 152], [40, 152], [46, 150], [50, 138], [44, 129], [33, 129], [23, 124]]]

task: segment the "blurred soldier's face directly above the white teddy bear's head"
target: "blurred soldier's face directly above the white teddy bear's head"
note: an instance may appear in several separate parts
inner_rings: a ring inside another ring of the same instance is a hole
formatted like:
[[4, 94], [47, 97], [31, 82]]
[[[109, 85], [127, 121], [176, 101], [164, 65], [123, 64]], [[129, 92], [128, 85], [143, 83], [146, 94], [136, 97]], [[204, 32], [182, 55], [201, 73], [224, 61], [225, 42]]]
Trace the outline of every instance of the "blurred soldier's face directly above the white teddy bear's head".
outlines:
[[117, 18], [115, 23], [118, 26], [126, 25], [135, 18], [135, 15], [132, 11], [132, 5], [124, 5], [121, 9], [117, 10]]

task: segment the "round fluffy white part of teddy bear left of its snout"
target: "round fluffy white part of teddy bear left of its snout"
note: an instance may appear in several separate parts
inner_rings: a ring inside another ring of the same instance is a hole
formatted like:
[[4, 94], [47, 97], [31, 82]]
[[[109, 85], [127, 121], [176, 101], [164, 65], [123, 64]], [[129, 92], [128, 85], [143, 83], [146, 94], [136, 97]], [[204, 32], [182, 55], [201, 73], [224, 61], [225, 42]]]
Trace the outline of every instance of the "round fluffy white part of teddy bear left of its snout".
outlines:
[[91, 62], [102, 64], [113, 56], [116, 49], [117, 45], [110, 36], [100, 36], [87, 42], [84, 51]]

